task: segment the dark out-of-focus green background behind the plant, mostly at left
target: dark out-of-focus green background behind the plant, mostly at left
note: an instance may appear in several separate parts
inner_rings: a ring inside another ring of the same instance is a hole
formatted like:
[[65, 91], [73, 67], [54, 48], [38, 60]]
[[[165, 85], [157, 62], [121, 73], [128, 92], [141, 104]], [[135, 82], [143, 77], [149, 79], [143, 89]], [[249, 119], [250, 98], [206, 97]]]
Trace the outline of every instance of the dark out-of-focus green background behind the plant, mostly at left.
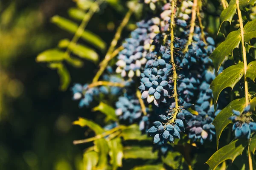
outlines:
[[[87, 26], [107, 44], [128, 10], [126, 0], [118, 4], [104, 4]], [[59, 40], [72, 39], [73, 34], [52, 24], [51, 18], [69, 18], [68, 9], [76, 5], [72, 0], [0, 1], [0, 170], [82, 169], [85, 146], [72, 142], [83, 139], [84, 130], [72, 122], [85, 114], [93, 117], [93, 113], [78, 108], [78, 102], [71, 99], [70, 87], [92, 79], [97, 65], [86, 60], [79, 69], [66, 65], [72, 79], [67, 91], [60, 91], [57, 72], [35, 61], [39, 53], [55, 48]], [[221, 12], [218, 5], [209, 1], [205, 8], [205, 24], [213, 37]], [[131, 18], [122, 38], [135, 28], [140, 17], [137, 14]], [[104, 51], [97, 52], [104, 57]]]

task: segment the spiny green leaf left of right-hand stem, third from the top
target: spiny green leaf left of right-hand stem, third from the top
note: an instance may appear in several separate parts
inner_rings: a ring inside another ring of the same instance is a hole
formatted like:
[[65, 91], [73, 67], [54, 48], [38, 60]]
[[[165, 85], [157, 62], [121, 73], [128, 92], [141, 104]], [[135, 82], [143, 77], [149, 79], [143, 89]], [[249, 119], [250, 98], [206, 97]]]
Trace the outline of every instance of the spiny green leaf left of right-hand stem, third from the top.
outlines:
[[213, 93], [214, 105], [218, 101], [218, 96], [224, 88], [231, 87], [232, 89], [237, 82], [244, 75], [244, 63], [240, 62], [237, 65], [232, 65], [226, 68], [221, 74], [219, 74], [210, 86]]

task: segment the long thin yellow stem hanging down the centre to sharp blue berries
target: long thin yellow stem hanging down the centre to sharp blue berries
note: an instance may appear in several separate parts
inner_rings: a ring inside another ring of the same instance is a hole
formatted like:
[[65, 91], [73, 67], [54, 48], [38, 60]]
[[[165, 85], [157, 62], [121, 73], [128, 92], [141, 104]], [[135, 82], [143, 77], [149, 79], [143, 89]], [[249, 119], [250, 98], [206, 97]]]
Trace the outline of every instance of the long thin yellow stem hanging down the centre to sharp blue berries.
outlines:
[[172, 73], [173, 73], [173, 81], [174, 81], [174, 90], [173, 90], [173, 97], [175, 98], [175, 109], [174, 115], [170, 120], [170, 123], [175, 122], [177, 113], [179, 111], [179, 101], [178, 101], [178, 94], [177, 94], [177, 72], [176, 72], [176, 65], [174, 62], [174, 10], [175, 10], [175, 0], [172, 0], [172, 15], [171, 15], [171, 23], [170, 23], [170, 30], [171, 30], [171, 43], [170, 43], [170, 54], [171, 54], [171, 63], [172, 63]]

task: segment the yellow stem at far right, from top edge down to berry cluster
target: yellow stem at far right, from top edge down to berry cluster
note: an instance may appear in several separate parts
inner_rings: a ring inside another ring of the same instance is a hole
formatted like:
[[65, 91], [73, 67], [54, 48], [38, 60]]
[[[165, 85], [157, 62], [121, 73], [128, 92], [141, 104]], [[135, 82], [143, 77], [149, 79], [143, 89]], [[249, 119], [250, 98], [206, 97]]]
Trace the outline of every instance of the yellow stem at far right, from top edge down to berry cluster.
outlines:
[[246, 78], [246, 71], [247, 71], [247, 59], [246, 59], [246, 49], [244, 46], [244, 26], [241, 11], [239, 8], [239, 0], [236, 0], [236, 7], [237, 7], [237, 14], [239, 18], [240, 30], [241, 30], [241, 45], [243, 51], [243, 60], [244, 60], [244, 93], [245, 93], [245, 105], [249, 105], [249, 93], [248, 93], [248, 82]]

